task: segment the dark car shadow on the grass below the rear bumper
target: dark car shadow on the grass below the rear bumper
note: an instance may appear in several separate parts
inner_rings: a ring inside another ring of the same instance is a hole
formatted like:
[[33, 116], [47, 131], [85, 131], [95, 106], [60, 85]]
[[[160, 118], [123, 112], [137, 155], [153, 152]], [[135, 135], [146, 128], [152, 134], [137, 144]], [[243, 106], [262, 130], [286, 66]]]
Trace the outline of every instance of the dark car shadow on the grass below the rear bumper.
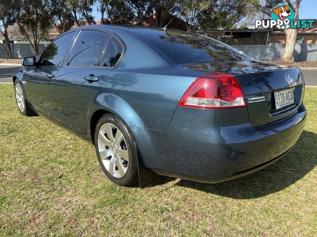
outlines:
[[264, 197], [305, 177], [317, 165], [316, 153], [317, 134], [304, 131], [287, 155], [258, 172], [217, 184], [180, 180], [175, 185], [236, 199]]

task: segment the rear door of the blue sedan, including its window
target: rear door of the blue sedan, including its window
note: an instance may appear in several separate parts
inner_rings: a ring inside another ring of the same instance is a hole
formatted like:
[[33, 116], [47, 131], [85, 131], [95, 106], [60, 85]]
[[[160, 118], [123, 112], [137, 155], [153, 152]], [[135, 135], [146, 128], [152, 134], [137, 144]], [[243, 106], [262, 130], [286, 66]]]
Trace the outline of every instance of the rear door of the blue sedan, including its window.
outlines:
[[110, 38], [113, 37], [103, 31], [82, 30], [55, 79], [59, 121], [81, 133], [87, 132], [93, 100], [113, 68], [104, 62], [101, 63], [102, 60], [109, 61], [109, 58], [106, 60], [105, 57], [110, 57], [106, 53], [109, 51], [106, 45], [109, 44]]

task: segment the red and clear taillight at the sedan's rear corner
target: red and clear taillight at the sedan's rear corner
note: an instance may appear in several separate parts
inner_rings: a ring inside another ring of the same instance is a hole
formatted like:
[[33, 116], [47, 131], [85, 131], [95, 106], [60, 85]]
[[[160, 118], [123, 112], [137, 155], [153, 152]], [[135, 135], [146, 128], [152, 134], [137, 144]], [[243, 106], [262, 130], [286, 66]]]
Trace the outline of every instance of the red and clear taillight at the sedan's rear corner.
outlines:
[[178, 106], [225, 109], [246, 107], [246, 102], [242, 89], [233, 76], [216, 73], [197, 78]]

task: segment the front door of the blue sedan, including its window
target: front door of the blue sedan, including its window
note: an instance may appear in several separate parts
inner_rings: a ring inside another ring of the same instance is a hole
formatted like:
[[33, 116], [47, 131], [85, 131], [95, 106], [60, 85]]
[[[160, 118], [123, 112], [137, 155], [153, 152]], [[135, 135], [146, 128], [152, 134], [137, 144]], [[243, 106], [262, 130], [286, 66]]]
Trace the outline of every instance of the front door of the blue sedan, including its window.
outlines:
[[55, 76], [61, 67], [76, 32], [70, 32], [54, 40], [29, 71], [27, 85], [33, 107], [44, 115], [57, 119], [55, 101]]

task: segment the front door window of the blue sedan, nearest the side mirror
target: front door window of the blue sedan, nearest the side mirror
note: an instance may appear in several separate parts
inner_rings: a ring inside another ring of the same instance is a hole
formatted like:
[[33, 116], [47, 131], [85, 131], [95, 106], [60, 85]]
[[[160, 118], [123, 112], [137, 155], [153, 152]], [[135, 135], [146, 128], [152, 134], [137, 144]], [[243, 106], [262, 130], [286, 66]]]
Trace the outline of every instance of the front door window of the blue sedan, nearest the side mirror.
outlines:
[[40, 65], [61, 66], [76, 32], [70, 32], [53, 41], [42, 53]]

